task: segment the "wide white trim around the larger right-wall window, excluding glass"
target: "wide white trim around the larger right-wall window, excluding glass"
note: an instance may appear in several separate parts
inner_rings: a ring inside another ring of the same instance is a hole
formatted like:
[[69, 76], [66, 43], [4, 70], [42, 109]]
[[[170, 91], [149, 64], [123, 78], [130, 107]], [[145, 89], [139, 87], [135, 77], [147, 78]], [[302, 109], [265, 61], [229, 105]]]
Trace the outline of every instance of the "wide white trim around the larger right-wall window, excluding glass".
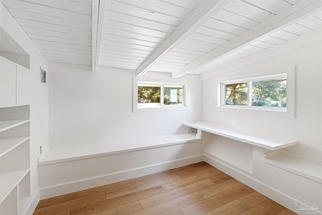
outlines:
[[[236, 82], [249, 82], [257, 80], [269, 80], [272, 78], [278, 78], [278, 75], [285, 75], [287, 77], [287, 107], [259, 107], [259, 106], [241, 106], [241, 105], [222, 105], [224, 104], [223, 98], [223, 85], [232, 84]], [[217, 86], [217, 99], [215, 110], [231, 113], [243, 113], [243, 114], [259, 114], [267, 116], [287, 117], [294, 118], [295, 114], [295, 66], [278, 68], [266, 71], [260, 71], [258, 73], [245, 74], [240, 76], [225, 77], [215, 80], [215, 86]]]

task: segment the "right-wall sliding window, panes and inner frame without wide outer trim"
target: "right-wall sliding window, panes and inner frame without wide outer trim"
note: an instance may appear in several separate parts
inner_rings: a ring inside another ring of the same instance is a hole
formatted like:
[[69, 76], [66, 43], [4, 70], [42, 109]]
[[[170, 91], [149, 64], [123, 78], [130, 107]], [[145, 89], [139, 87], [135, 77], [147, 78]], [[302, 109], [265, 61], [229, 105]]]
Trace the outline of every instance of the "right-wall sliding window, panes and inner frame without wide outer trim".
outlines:
[[286, 111], [287, 74], [221, 82], [221, 107]]

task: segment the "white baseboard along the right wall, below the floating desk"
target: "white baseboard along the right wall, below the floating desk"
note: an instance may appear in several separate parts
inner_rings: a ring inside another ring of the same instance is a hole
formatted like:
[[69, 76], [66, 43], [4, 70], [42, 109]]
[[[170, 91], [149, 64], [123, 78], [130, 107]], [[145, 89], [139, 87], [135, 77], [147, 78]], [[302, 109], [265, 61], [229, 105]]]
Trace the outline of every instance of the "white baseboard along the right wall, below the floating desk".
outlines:
[[278, 202], [284, 207], [292, 211], [295, 211], [297, 209], [294, 205], [294, 198], [291, 198], [290, 196], [284, 193], [281, 193], [278, 190], [275, 190], [266, 184], [263, 184], [262, 182], [247, 175], [243, 171], [240, 171], [238, 168], [227, 165], [224, 162], [222, 162], [220, 159], [214, 158], [209, 155], [204, 155], [204, 161], [210, 164], [211, 166], [219, 169], [220, 171], [226, 173], [227, 175], [230, 175], [231, 177], [235, 178], [241, 183], [244, 183], [247, 186], [251, 187], [252, 189], [269, 197], [273, 201]]

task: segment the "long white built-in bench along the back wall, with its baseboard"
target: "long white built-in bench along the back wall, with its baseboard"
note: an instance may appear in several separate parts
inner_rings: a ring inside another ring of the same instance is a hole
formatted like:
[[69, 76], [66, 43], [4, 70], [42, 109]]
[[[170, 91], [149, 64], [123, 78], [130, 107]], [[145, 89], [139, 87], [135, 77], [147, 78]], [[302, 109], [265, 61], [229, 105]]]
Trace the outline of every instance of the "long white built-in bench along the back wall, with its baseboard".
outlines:
[[46, 149], [38, 158], [40, 199], [203, 161], [196, 129]]

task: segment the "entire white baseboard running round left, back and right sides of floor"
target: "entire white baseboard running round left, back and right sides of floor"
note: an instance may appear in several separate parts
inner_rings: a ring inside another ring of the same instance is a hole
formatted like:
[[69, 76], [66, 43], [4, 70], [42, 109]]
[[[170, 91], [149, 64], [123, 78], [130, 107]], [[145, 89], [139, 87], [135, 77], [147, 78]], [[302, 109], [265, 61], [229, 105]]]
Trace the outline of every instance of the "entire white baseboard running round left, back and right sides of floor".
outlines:
[[[105, 184], [115, 183], [131, 178], [136, 178], [148, 174], [153, 174], [157, 172], [162, 172], [177, 167], [194, 164], [198, 162], [205, 161], [211, 166], [221, 170], [222, 172], [230, 175], [236, 180], [246, 184], [247, 186], [253, 188], [254, 190], [262, 193], [263, 195], [269, 197], [270, 199], [278, 202], [284, 207], [296, 212], [296, 205], [294, 205], [295, 199], [281, 193], [280, 191], [264, 184], [257, 179], [254, 179], [252, 175], [246, 171], [243, 171], [237, 167], [229, 165], [220, 159], [217, 159], [211, 155], [197, 155], [193, 157], [183, 158], [179, 160], [168, 161], [165, 163], [153, 164], [150, 166], [138, 167], [132, 170], [112, 173], [104, 176], [99, 176], [95, 178], [85, 179], [82, 181], [70, 182], [67, 184], [61, 184], [53, 187], [42, 188], [37, 192], [37, 195], [33, 196], [32, 203], [28, 207], [27, 212], [23, 214], [32, 214], [34, 208], [37, 206], [39, 199], [50, 198], [58, 195], [63, 195], [79, 190], [89, 189], [97, 186], [102, 186]], [[319, 212], [319, 211], [318, 211]], [[321, 213], [318, 213], [321, 214]]]

